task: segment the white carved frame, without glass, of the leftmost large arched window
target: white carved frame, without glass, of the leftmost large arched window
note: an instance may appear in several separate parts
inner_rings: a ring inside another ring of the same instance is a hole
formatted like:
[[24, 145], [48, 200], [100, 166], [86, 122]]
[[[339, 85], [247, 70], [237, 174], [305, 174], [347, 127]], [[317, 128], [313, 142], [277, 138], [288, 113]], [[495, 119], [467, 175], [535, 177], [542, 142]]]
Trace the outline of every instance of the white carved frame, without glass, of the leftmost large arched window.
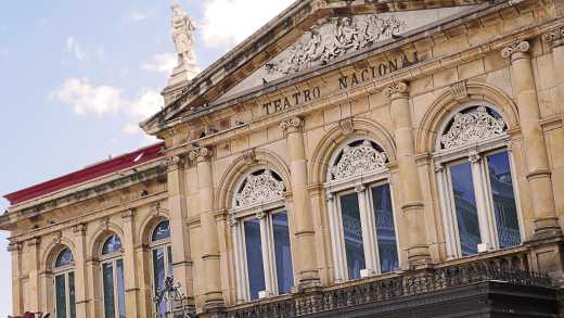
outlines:
[[251, 219], [258, 219], [260, 225], [265, 290], [259, 292], [259, 297], [275, 296], [279, 287], [272, 217], [279, 213], [290, 216], [286, 187], [275, 171], [259, 166], [248, 173], [235, 189], [238, 192], [233, 195], [233, 208], [229, 211], [229, 224], [234, 247], [236, 301], [243, 303], [252, 300], [244, 229], [245, 220]]

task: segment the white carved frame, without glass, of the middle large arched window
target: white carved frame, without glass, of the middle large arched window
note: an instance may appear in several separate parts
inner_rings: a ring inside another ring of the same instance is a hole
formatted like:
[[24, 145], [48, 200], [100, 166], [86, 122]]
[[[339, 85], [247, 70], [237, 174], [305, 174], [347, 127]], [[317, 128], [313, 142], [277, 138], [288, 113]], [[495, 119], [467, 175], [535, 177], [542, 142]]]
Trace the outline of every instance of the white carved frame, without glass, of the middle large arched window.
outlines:
[[[359, 143], [360, 141], [362, 141], [362, 143], [350, 145]], [[331, 243], [333, 247], [335, 282], [343, 282], [350, 279], [348, 277], [347, 269], [344, 225], [339, 199], [354, 192], [358, 193], [358, 205], [360, 209], [362, 242], [366, 260], [366, 268], [361, 270], [361, 276], [371, 277], [382, 274], [376, 243], [376, 229], [371, 189], [383, 185], [389, 185], [390, 174], [386, 166], [387, 157], [385, 153], [376, 149], [373, 149], [373, 151], [367, 151], [367, 147], [372, 148], [372, 142], [369, 141], [369, 145], [367, 144], [367, 141], [369, 140], [356, 138], [344, 142], [344, 144], [334, 152], [332, 158], [330, 160], [331, 164], [328, 168], [326, 175], [326, 180], [329, 181], [323, 183], [331, 227]], [[359, 151], [363, 148], [363, 151]], [[351, 150], [355, 149], [357, 151], [351, 152]], [[356, 158], [350, 154], [355, 154]], [[371, 164], [367, 164], [366, 161], [368, 157], [370, 157], [370, 161], [372, 161]], [[357, 163], [355, 163], [355, 160]], [[354, 168], [349, 168], [348, 171], [352, 171], [355, 168], [360, 168], [361, 170], [357, 174], [348, 174], [348, 176], [341, 173], [335, 174], [335, 170], [347, 170], [347, 168], [343, 167], [344, 162], [350, 166], [354, 166]], [[358, 162], [361, 163], [359, 164]], [[390, 189], [390, 191], [393, 201], [393, 189]], [[396, 209], [395, 206], [393, 206], [393, 209]], [[398, 233], [395, 213], [394, 227], [395, 233]], [[401, 260], [399, 259], [399, 262]]]

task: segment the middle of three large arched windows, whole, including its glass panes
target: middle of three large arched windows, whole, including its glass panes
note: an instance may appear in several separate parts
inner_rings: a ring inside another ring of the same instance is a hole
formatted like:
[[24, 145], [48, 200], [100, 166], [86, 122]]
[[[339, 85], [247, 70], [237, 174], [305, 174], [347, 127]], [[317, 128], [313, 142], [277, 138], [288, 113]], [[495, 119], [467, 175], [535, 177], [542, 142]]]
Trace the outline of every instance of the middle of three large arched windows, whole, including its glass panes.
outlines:
[[341, 147], [324, 185], [335, 280], [352, 280], [399, 267], [387, 156], [368, 139]]

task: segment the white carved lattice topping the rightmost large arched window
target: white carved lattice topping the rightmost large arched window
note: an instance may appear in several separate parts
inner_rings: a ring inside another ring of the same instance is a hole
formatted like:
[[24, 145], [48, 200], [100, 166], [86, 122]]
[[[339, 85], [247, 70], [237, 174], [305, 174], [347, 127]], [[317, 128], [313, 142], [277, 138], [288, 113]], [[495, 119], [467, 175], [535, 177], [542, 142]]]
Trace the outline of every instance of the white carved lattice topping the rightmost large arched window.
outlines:
[[440, 137], [443, 149], [451, 149], [502, 136], [507, 124], [503, 118], [488, 114], [485, 106], [454, 115], [449, 130]]

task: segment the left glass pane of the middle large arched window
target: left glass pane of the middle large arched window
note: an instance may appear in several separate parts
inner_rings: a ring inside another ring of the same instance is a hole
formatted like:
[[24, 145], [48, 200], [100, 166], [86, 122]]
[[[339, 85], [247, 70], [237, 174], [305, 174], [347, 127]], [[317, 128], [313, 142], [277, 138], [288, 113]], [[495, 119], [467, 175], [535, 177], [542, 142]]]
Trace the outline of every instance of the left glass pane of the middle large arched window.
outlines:
[[360, 270], [366, 268], [366, 263], [358, 194], [354, 192], [341, 195], [339, 201], [341, 215], [343, 217], [348, 279], [359, 279]]

